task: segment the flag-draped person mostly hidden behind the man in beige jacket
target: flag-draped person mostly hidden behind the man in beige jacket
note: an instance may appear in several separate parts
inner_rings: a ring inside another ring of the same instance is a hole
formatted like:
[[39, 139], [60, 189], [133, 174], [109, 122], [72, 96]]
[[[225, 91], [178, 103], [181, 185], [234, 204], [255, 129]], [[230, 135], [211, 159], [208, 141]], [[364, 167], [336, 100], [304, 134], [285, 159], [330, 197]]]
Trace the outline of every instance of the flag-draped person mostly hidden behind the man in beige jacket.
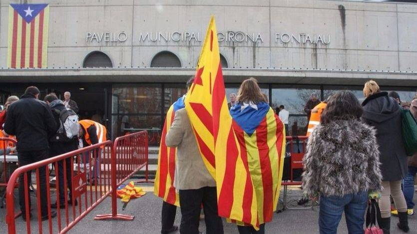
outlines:
[[[194, 76], [191, 76], [186, 83], [187, 91], [190, 89], [193, 81]], [[180, 97], [169, 107], [165, 118], [164, 128], [161, 134], [158, 167], [156, 170], [154, 183], [154, 194], [163, 200], [161, 214], [161, 234], [168, 234], [178, 230], [178, 227], [174, 226], [175, 214], [177, 211], [177, 206], [179, 206], [179, 196], [174, 185], [175, 174], [177, 173], [175, 171], [178, 169], [178, 167], [175, 166], [177, 149], [167, 147], [165, 144], [165, 138], [166, 133], [171, 128], [175, 112], [185, 107], [185, 95], [186, 94]]]

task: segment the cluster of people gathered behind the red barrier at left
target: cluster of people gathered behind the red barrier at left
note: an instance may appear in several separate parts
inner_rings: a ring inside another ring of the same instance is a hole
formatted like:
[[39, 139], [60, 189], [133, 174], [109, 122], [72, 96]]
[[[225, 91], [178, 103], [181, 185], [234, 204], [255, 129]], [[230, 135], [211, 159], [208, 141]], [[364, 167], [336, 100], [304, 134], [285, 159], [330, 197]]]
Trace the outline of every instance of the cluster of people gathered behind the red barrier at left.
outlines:
[[[5, 110], [0, 113], [0, 130], [2, 137], [11, 137], [16, 139], [14, 147], [6, 148], [9, 154], [12, 151], [17, 152], [18, 165], [24, 166], [36, 163], [44, 159], [61, 155], [67, 152], [77, 150], [78, 148], [97, 144], [106, 140], [106, 129], [103, 125], [92, 120], [78, 119], [77, 103], [70, 99], [71, 94], [65, 92], [64, 100], [58, 99], [55, 93], [47, 94], [43, 101], [39, 100], [40, 91], [35, 86], [27, 87], [20, 99], [16, 96], [10, 96], [5, 103]], [[5, 142], [3, 142], [4, 144]], [[89, 164], [89, 156], [81, 157], [82, 164]], [[100, 152], [92, 154], [91, 167], [92, 175], [89, 175], [89, 183], [96, 183], [95, 180], [99, 174]], [[64, 161], [66, 161], [64, 163]], [[66, 164], [66, 166], [64, 166]], [[3, 164], [0, 164], [3, 166]], [[72, 197], [72, 186], [70, 175], [73, 175], [71, 159], [58, 161], [58, 187], [59, 194], [57, 200], [51, 204], [52, 209], [64, 208], [75, 205], [77, 201]], [[3, 171], [3, 168], [1, 171]], [[39, 169], [40, 191], [40, 214], [41, 220], [48, 219], [47, 213], [47, 193], [46, 193], [46, 171], [45, 167]], [[12, 170], [7, 170], [11, 172]], [[64, 173], [67, 175], [66, 186], [64, 185]], [[27, 183], [23, 183], [24, 175], [19, 177], [19, 205], [22, 212], [22, 218], [26, 221], [31, 214], [26, 214], [26, 207], [30, 212], [30, 199], [28, 204], [25, 203], [25, 191], [31, 183], [31, 172], [27, 172]], [[69, 191], [65, 191], [67, 188]], [[68, 199], [65, 200], [65, 193], [68, 193]], [[74, 201], [73, 201], [74, 199]], [[51, 212], [51, 218], [56, 216], [56, 212]]]

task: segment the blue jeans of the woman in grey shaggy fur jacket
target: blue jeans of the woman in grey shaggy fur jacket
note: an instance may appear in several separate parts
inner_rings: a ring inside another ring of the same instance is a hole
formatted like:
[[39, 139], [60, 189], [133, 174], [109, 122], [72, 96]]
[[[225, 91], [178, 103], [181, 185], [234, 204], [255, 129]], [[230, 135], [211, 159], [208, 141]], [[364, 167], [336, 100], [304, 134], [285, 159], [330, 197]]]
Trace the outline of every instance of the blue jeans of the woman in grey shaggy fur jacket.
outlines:
[[320, 197], [320, 234], [336, 234], [345, 211], [349, 234], [363, 234], [368, 192], [348, 194], [343, 197]]

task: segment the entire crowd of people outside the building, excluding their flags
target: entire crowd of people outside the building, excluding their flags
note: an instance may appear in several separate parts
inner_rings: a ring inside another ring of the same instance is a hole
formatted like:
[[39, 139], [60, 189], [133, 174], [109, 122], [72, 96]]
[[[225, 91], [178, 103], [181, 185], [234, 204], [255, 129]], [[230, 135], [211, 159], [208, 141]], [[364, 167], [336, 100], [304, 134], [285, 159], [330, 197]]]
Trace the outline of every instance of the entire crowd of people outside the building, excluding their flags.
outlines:
[[[187, 89], [193, 78], [187, 82]], [[382, 92], [378, 83], [366, 82], [363, 89], [365, 100], [362, 104], [351, 91], [338, 91], [324, 102], [313, 93], [307, 101], [309, 140], [303, 159], [304, 173], [302, 188], [313, 201], [320, 199], [319, 228], [321, 234], [337, 233], [339, 222], [345, 213], [349, 233], [363, 233], [365, 212], [369, 200], [377, 199], [381, 210], [379, 227], [389, 234], [391, 215], [398, 216], [398, 229], [409, 232], [408, 216], [414, 214], [413, 196], [417, 172], [417, 154], [408, 157], [402, 135], [402, 111], [410, 109], [417, 118], [417, 97], [410, 103], [402, 102], [396, 92]], [[106, 140], [106, 129], [93, 120], [79, 120], [77, 104], [65, 92], [64, 100], [54, 93], [39, 100], [40, 92], [34, 87], [26, 88], [20, 99], [10, 96], [5, 110], [0, 112], [0, 137], [14, 137], [16, 147], [3, 146], [10, 153], [18, 152], [19, 166], [38, 162]], [[259, 108], [268, 105], [256, 79], [243, 81], [238, 94], [230, 94], [228, 107], [231, 114], [248, 106]], [[181, 234], [199, 233], [199, 219], [203, 207], [207, 234], [222, 234], [223, 224], [218, 216], [216, 182], [206, 168], [201, 156], [195, 134], [190, 124], [184, 104], [175, 112], [172, 125], [166, 134], [166, 146], [177, 149], [174, 186], [179, 193], [181, 204]], [[280, 119], [288, 132], [289, 112], [279, 106]], [[247, 119], [248, 122], [255, 119]], [[76, 124], [64, 126], [66, 120]], [[293, 130], [294, 131], [294, 130]], [[262, 137], [261, 135], [259, 137]], [[265, 136], [266, 137], [266, 136]], [[266, 139], [264, 139], [266, 141]], [[258, 139], [259, 141], [259, 139]], [[3, 143], [4, 144], [4, 143]], [[100, 152], [96, 152], [93, 162], [84, 157], [84, 163], [94, 167], [89, 182], [95, 183], [100, 168]], [[94, 155], [94, 154], [93, 154]], [[278, 157], [278, 155], [277, 155]], [[71, 189], [64, 190], [64, 176], [73, 173], [68, 166], [70, 159], [58, 162], [59, 194], [51, 208], [75, 206]], [[2, 166], [2, 164], [0, 164]], [[0, 168], [0, 172], [4, 168]], [[263, 175], [260, 168], [252, 169], [251, 174]], [[1, 176], [4, 177], [3, 173]], [[30, 172], [27, 173], [31, 178]], [[41, 219], [48, 219], [46, 200], [45, 168], [39, 168], [39, 190], [41, 194]], [[23, 175], [19, 180], [22, 182]], [[24, 191], [27, 184], [19, 184], [19, 204], [22, 218], [26, 220]], [[72, 188], [71, 180], [66, 187]], [[65, 201], [65, 193], [68, 193]], [[391, 209], [391, 198], [395, 210]], [[176, 207], [164, 202], [162, 209], [162, 231], [167, 234], [178, 230], [174, 226]], [[30, 209], [29, 209], [30, 210]], [[29, 214], [30, 218], [31, 214]], [[55, 217], [56, 212], [51, 213]], [[265, 224], [255, 230], [252, 226], [238, 225], [240, 234], [263, 234]]]

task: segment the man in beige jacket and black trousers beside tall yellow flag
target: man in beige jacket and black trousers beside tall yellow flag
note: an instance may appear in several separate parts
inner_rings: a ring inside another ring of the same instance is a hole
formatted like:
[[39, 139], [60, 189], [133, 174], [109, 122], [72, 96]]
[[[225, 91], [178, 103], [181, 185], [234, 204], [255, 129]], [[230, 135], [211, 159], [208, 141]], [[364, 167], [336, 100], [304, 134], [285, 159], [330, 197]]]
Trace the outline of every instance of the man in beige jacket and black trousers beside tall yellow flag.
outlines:
[[165, 143], [168, 147], [177, 147], [174, 184], [179, 190], [182, 216], [180, 233], [199, 233], [202, 204], [206, 233], [223, 234], [223, 223], [217, 213], [216, 182], [204, 165], [185, 108], [175, 112]]

